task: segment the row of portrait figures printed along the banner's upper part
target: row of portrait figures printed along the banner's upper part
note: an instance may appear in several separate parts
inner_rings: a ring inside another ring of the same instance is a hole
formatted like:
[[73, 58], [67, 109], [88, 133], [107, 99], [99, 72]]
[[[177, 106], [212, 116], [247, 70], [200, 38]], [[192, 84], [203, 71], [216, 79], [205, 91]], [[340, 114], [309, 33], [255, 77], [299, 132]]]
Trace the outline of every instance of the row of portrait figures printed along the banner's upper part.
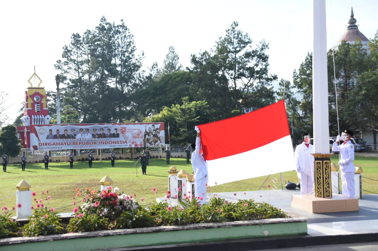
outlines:
[[110, 132], [110, 128], [107, 129], [107, 133], [104, 133], [104, 129], [100, 129], [100, 133], [97, 133], [97, 129], [93, 128], [92, 133], [89, 132], [89, 129], [80, 128], [79, 132], [76, 134], [75, 129], [71, 129], [71, 134], [68, 134], [68, 130], [64, 129], [64, 133], [60, 134], [60, 130], [56, 130], [56, 134], [53, 134], [53, 130], [49, 130], [49, 134], [46, 136], [46, 139], [92, 139], [92, 138], [119, 138], [118, 129], [114, 129], [114, 133]]

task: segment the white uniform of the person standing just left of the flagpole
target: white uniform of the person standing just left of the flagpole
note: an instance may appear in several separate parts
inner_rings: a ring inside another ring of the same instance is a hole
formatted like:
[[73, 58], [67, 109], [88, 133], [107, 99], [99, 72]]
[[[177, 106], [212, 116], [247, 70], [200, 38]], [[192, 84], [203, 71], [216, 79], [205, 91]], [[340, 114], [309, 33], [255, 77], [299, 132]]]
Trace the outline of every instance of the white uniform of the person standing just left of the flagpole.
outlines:
[[301, 174], [301, 194], [312, 194], [314, 188], [314, 153], [313, 145], [308, 147], [303, 142], [295, 148], [295, 164], [297, 173]]

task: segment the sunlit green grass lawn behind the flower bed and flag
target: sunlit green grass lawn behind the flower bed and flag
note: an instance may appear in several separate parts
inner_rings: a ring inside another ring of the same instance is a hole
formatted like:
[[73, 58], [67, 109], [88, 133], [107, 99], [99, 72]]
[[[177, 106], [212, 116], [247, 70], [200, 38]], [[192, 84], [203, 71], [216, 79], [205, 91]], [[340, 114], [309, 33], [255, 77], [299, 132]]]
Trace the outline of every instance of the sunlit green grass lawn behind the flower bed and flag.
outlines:
[[[337, 164], [338, 155], [334, 155], [331, 161]], [[12, 208], [16, 205], [16, 196], [6, 196], [15, 193], [16, 185], [25, 179], [31, 185], [31, 191], [37, 192], [37, 199], [43, 199], [42, 191], [49, 190], [51, 200], [45, 202], [45, 206], [61, 208], [57, 209], [59, 213], [67, 213], [73, 210], [73, 198], [77, 205], [80, 204], [82, 197], [76, 197], [76, 188], [100, 189], [100, 180], [108, 175], [113, 179], [113, 187], [119, 187], [127, 194], [136, 194], [136, 200], [140, 205], [151, 205], [156, 201], [156, 197], [164, 197], [168, 190], [168, 175], [166, 171], [174, 165], [178, 170], [184, 169], [192, 173], [192, 165], [186, 164], [185, 158], [171, 158], [170, 165], [166, 164], [163, 159], [150, 159], [150, 165], [147, 166], [147, 175], [142, 175], [138, 167], [135, 168], [135, 160], [116, 160], [115, 167], [111, 167], [110, 161], [93, 161], [92, 168], [88, 167], [88, 162], [74, 162], [74, 168], [71, 169], [69, 163], [53, 162], [49, 164], [49, 170], [45, 170], [44, 164], [26, 164], [26, 171], [21, 171], [21, 164], [8, 165], [7, 172], [1, 175], [1, 193], [0, 207], [6, 206]], [[269, 161], [266, 161], [267, 165]], [[354, 161], [356, 166], [363, 168], [363, 194], [378, 193], [378, 158], [356, 156]], [[253, 161], [251, 168], [254, 167]], [[294, 169], [294, 168], [293, 168]], [[230, 167], [230, 171], [238, 171], [236, 167]], [[225, 173], [225, 175], [227, 175]], [[243, 173], [240, 173], [243, 176]], [[298, 182], [295, 171], [283, 173], [286, 182]], [[210, 188], [210, 193], [230, 192], [230, 191], [252, 191], [257, 190], [263, 184], [266, 176], [242, 181], [231, 182], [228, 184], [217, 185]], [[276, 183], [272, 180], [277, 179]], [[285, 186], [283, 181], [283, 186]], [[265, 182], [262, 190], [266, 190], [266, 185], [280, 188], [280, 175], [272, 174]], [[158, 193], [155, 194], [152, 188], [156, 187]], [[283, 187], [285, 188], [285, 187]], [[144, 201], [141, 198], [144, 198]], [[33, 205], [33, 202], [32, 202]], [[77, 206], [76, 205], [76, 206]]]

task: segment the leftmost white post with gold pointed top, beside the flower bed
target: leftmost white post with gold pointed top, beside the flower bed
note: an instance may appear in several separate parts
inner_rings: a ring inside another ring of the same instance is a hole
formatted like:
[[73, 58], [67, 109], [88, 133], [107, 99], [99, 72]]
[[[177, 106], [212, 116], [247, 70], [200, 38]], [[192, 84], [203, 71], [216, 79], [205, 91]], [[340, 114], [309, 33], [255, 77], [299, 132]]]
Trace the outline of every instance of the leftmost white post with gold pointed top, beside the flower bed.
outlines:
[[16, 217], [27, 219], [31, 216], [31, 185], [25, 180], [16, 185]]

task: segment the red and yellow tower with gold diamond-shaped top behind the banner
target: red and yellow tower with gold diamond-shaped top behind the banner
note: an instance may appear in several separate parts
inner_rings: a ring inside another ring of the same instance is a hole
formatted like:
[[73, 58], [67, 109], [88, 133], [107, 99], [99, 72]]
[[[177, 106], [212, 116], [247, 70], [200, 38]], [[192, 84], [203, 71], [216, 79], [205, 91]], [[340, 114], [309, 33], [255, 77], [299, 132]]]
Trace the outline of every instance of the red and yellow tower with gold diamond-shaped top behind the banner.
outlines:
[[[34, 78], [34, 86], [31, 80]], [[39, 83], [37, 83], [39, 81]], [[23, 148], [30, 148], [30, 125], [50, 124], [48, 115], [45, 87], [40, 87], [42, 80], [37, 73], [33, 73], [28, 80], [30, 86], [25, 91], [24, 116], [21, 118], [23, 126], [17, 126], [19, 139]]]

